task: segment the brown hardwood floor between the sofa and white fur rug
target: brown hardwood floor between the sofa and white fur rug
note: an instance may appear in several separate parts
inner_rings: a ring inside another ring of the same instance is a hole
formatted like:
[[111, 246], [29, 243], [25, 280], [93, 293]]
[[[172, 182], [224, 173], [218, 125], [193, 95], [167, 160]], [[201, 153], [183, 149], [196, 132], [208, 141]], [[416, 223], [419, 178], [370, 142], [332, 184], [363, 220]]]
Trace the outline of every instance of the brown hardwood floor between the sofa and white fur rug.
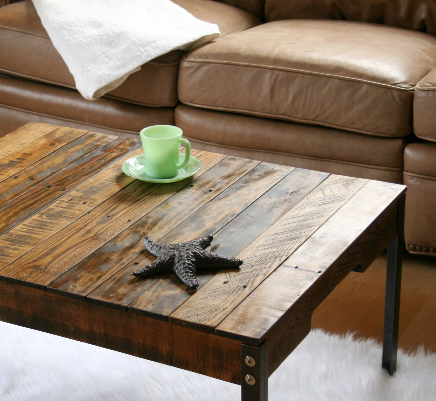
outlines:
[[[383, 339], [386, 254], [364, 273], [351, 272], [312, 316], [312, 328], [355, 332]], [[399, 347], [415, 351], [423, 344], [436, 352], [436, 258], [405, 252], [400, 301]]]

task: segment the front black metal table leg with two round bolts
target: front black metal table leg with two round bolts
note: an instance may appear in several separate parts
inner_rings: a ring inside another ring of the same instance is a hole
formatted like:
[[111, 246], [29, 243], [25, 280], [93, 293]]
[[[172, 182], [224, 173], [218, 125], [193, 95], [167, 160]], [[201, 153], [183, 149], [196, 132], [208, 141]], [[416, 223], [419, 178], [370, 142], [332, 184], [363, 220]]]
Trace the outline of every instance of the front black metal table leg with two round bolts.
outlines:
[[268, 400], [268, 342], [241, 345], [241, 400]]

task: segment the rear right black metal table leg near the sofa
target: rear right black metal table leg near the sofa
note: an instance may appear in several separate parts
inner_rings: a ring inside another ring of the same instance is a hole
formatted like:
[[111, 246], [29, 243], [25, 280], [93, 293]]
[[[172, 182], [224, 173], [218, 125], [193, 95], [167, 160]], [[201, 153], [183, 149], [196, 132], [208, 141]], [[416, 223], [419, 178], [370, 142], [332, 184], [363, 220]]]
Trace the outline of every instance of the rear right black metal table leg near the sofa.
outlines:
[[381, 366], [392, 376], [397, 367], [398, 322], [400, 310], [401, 269], [404, 248], [405, 196], [398, 200], [397, 236], [388, 245], [386, 272], [385, 327]]

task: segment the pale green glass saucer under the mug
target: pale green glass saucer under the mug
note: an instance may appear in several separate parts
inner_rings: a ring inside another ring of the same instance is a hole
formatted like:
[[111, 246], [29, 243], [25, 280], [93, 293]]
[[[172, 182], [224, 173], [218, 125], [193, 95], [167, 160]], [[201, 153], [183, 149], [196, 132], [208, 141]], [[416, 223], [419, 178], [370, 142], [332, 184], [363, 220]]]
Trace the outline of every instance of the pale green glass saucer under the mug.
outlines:
[[[181, 153], [179, 156], [179, 163], [181, 163], [185, 158], [184, 153]], [[123, 173], [128, 175], [129, 177], [136, 178], [136, 180], [142, 180], [146, 182], [153, 182], [156, 184], [165, 184], [168, 182], [176, 182], [180, 180], [184, 180], [187, 177], [193, 176], [198, 170], [201, 169], [201, 162], [194, 156], [189, 156], [189, 162], [187, 165], [178, 170], [177, 176], [171, 178], [153, 178], [149, 177], [145, 173], [145, 162], [144, 155], [140, 154], [138, 156], [133, 156], [127, 159], [123, 163]]]

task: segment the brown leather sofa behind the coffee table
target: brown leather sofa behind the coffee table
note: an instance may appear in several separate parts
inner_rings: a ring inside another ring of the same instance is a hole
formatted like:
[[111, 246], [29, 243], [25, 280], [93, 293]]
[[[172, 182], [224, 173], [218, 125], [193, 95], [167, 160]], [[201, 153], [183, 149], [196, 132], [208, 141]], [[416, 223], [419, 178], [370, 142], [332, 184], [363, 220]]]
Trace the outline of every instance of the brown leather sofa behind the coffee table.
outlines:
[[[4, 2], [7, 0], [3, 0]], [[83, 99], [30, 0], [0, 8], [0, 134], [29, 122], [408, 186], [409, 252], [436, 256], [436, 0], [174, 0], [221, 36]]]

